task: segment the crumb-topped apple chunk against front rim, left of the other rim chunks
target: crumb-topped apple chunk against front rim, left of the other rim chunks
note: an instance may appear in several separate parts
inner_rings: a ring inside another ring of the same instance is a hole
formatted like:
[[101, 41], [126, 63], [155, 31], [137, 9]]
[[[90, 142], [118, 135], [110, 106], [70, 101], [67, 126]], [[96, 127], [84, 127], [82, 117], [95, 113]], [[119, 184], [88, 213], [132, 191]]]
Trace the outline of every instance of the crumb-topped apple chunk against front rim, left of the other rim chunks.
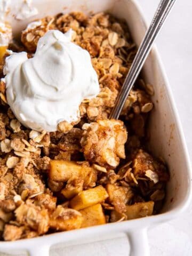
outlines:
[[50, 227], [56, 230], [71, 230], [81, 228], [82, 214], [73, 209], [63, 208], [58, 205], [50, 215]]

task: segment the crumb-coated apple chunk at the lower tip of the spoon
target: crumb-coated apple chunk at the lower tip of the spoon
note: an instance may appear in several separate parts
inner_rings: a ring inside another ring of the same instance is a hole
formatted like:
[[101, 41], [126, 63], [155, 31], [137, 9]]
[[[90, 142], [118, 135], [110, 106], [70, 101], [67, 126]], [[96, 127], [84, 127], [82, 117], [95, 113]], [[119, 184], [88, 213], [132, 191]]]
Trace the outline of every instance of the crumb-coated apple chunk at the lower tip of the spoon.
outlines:
[[122, 121], [98, 120], [84, 124], [81, 140], [85, 159], [101, 166], [115, 168], [125, 158], [127, 132]]

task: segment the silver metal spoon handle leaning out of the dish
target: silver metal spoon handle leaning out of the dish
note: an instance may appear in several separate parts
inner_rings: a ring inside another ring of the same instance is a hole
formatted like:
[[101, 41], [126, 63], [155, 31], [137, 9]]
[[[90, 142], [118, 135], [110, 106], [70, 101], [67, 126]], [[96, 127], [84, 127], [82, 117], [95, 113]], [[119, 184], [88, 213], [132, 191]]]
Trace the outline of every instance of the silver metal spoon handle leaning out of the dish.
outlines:
[[175, 1], [176, 0], [162, 0], [158, 5], [150, 27], [147, 30], [145, 37], [143, 38], [143, 41], [131, 65], [130, 71], [125, 78], [122, 89], [118, 94], [115, 106], [110, 114], [110, 119], [118, 119], [124, 103], [134, 85], [134, 82], [137, 79], [141, 68], [151, 50], [151, 47], [153, 46], [153, 43], [159, 33], [159, 30], [162, 28], [164, 21], [167, 15], [170, 13]]

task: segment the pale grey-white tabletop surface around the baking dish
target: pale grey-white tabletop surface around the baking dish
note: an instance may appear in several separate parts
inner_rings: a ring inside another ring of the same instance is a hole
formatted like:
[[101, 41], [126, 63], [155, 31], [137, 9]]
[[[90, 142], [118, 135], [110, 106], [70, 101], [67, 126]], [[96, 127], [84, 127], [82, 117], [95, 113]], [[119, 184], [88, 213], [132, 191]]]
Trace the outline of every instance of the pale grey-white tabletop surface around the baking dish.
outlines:
[[[159, 0], [138, 0], [151, 20]], [[192, 1], [177, 0], [157, 39], [192, 159]], [[151, 256], [192, 255], [192, 203], [185, 215], [148, 231]], [[125, 256], [126, 237], [51, 250], [51, 256]], [[141, 255], [142, 256], [142, 255]]]

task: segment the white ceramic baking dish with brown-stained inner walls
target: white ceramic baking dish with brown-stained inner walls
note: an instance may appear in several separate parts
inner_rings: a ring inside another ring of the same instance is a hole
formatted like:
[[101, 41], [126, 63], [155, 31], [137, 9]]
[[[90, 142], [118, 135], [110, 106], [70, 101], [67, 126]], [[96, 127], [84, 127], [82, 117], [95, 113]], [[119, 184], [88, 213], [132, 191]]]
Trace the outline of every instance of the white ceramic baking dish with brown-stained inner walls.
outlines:
[[[134, 0], [34, 0], [39, 14], [25, 21], [15, 21], [12, 14], [17, 12], [22, 1], [12, 0], [9, 19], [12, 22], [14, 33], [26, 27], [34, 18], [44, 17], [47, 14], [81, 10], [84, 12], [108, 11], [117, 17], [125, 18], [134, 41], [139, 45], [146, 31], [143, 14]], [[131, 255], [148, 255], [146, 230], [182, 214], [191, 200], [191, 168], [186, 143], [180, 121], [175, 108], [170, 85], [167, 82], [161, 60], [156, 49], [151, 51], [143, 68], [146, 81], [153, 84], [155, 95], [153, 101], [155, 109], [151, 114], [149, 130], [149, 146], [156, 156], [162, 156], [169, 165], [171, 179], [167, 185], [166, 202], [161, 214], [137, 220], [119, 223], [109, 223], [103, 226], [84, 228], [66, 232], [45, 235], [32, 239], [22, 239], [15, 242], [0, 242], [0, 250], [11, 253], [14, 250], [27, 250], [30, 255], [49, 255], [50, 246], [56, 243], [85, 243], [126, 233], [130, 239]]]

